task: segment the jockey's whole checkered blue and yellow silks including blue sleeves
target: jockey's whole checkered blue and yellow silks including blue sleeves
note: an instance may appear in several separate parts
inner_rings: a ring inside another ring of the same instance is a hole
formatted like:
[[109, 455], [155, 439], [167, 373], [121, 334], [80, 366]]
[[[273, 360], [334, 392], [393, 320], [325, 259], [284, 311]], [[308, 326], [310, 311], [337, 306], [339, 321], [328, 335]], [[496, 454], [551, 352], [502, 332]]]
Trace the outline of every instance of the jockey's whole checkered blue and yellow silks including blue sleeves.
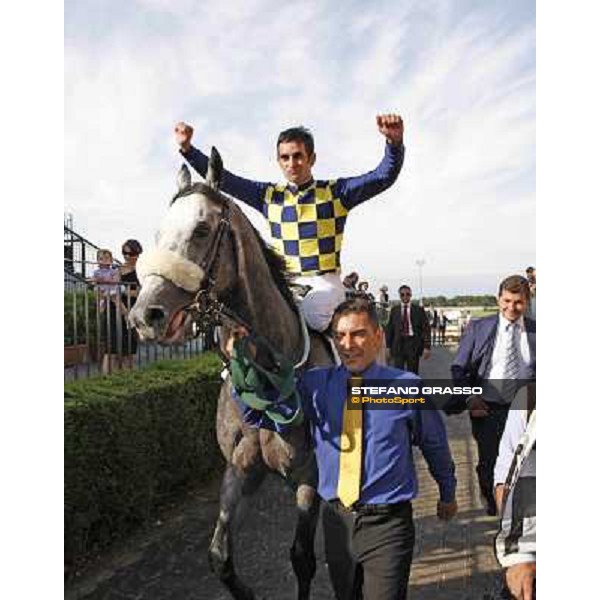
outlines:
[[[182, 152], [206, 175], [208, 158], [193, 146]], [[221, 189], [260, 211], [269, 221], [275, 250], [285, 257], [292, 275], [340, 271], [340, 251], [348, 212], [389, 188], [404, 162], [404, 146], [385, 144], [372, 171], [356, 177], [311, 181], [297, 188], [246, 179], [224, 170]]]

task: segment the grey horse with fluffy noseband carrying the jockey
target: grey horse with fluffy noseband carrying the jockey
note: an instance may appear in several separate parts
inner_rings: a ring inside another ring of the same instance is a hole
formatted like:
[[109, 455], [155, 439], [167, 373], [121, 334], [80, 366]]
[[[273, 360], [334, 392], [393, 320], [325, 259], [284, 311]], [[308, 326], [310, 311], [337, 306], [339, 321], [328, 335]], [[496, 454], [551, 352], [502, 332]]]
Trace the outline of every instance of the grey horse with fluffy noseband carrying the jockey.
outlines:
[[[221, 318], [220, 348], [236, 326], [243, 324], [266, 338], [294, 364], [331, 364], [326, 344], [306, 335], [285, 276], [285, 263], [268, 247], [243, 212], [219, 192], [222, 162], [211, 152], [206, 184], [191, 182], [187, 167], [178, 175], [179, 191], [157, 234], [156, 249], [138, 262], [142, 288], [130, 314], [142, 339], [179, 342], [198, 318]], [[193, 309], [191, 308], [193, 307]], [[310, 352], [308, 349], [310, 348]], [[272, 367], [268, 353], [257, 362]], [[229, 378], [221, 387], [217, 408], [217, 438], [227, 461], [220, 511], [209, 548], [209, 563], [231, 595], [255, 598], [238, 577], [233, 561], [236, 509], [242, 498], [259, 487], [269, 470], [295, 489], [297, 521], [290, 559], [301, 600], [309, 598], [316, 570], [315, 530], [319, 514], [317, 468], [305, 425], [276, 433], [245, 424]]]

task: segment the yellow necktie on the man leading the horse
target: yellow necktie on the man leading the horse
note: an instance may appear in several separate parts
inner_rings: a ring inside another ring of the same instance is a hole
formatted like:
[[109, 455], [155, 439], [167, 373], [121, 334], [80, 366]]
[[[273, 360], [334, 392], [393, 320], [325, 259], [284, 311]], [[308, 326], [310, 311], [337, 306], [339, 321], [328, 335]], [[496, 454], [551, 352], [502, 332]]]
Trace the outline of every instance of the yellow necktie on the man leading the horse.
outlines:
[[[353, 377], [351, 385], [362, 385], [362, 378]], [[344, 421], [340, 436], [340, 475], [337, 489], [340, 502], [348, 508], [360, 497], [362, 467], [363, 409], [360, 402], [353, 406], [357, 408], [348, 410], [348, 400], [344, 403]]]

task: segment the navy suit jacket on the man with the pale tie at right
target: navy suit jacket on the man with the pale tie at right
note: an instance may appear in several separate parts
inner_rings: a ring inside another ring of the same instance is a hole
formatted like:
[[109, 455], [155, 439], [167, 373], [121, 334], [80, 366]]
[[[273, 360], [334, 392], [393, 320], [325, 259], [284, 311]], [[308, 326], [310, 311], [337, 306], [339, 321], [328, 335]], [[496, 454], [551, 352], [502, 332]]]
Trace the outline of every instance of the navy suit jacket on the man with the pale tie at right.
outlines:
[[[535, 377], [535, 321], [525, 317], [525, 331], [531, 356], [530, 370]], [[489, 372], [498, 332], [498, 315], [471, 321], [464, 332], [450, 370], [455, 386], [479, 386]], [[454, 395], [444, 407], [447, 414], [467, 408], [466, 395]]]

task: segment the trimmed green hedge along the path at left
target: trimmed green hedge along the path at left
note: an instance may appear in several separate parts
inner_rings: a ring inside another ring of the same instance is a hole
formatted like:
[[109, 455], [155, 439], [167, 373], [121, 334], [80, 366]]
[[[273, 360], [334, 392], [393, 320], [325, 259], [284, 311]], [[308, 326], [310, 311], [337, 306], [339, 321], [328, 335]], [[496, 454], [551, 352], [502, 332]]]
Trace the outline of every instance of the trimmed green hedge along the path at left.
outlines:
[[65, 384], [65, 569], [222, 465], [214, 354]]

